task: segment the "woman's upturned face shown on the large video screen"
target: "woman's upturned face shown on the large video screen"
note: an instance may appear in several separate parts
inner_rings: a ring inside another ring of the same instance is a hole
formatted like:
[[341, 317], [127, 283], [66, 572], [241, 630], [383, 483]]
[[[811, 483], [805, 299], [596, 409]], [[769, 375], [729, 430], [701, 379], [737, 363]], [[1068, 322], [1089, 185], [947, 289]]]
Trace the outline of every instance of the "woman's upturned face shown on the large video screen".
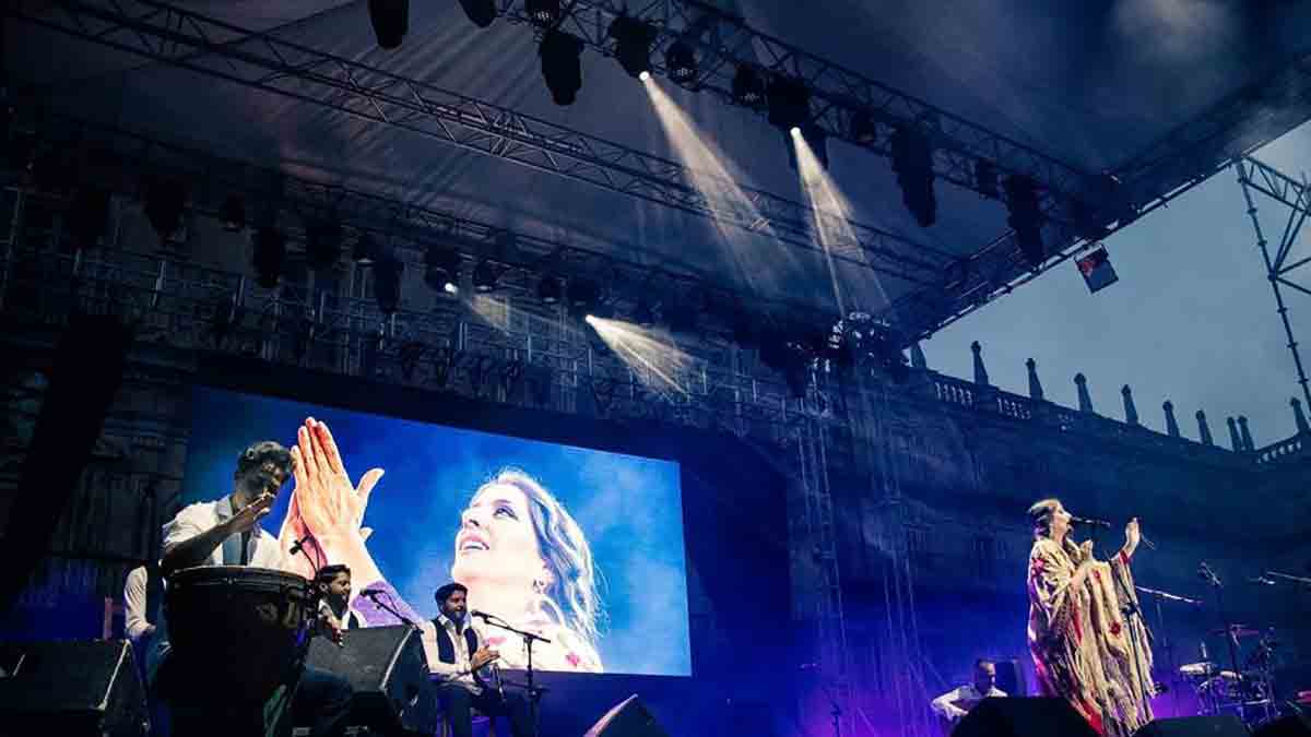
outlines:
[[477, 581], [524, 588], [543, 581], [545, 565], [530, 514], [528, 497], [515, 487], [479, 489], [461, 514], [451, 577], [469, 588]]

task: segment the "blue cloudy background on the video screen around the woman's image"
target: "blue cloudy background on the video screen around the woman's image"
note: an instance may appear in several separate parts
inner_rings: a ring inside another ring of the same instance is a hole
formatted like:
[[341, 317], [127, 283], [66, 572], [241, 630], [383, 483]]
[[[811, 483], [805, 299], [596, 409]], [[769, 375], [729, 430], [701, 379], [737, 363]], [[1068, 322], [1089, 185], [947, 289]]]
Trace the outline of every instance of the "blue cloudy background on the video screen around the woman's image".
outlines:
[[[368, 547], [388, 581], [425, 616], [437, 614], [433, 591], [451, 580], [460, 513], [473, 493], [505, 468], [530, 473], [574, 517], [591, 547], [604, 671], [692, 674], [676, 463], [203, 386], [191, 410], [184, 504], [229, 493], [243, 448], [261, 439], [290, 447], [307, 417], [332, 429], [351, 481], [383, 468], [364, 518], [374, 530]], [[288, 481], [265, 521], [274, 535], [292, 487]]]

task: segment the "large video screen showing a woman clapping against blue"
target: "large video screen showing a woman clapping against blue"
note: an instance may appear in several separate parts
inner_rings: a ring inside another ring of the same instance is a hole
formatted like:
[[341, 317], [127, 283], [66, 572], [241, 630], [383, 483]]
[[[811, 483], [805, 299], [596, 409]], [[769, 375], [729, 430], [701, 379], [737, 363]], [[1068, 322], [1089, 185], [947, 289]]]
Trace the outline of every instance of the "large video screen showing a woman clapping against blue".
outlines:
[[[292, 447], [309, 418], [326, 428], [349, 483], [374, 483], [353, 521], [363, 544], [313, 549], [354, 564], [357, 601], [393, 589], [402, 612], [430, 619], [437, 588], [458, 581], [471, 608], [552, 640], [534, 647], [535, 669], [691, 675], [676, 463], [211, 387], [191, 417], [184, 504], [229, 494], [252, 443]], [[283, 539], [333, 511], [299, 509], [296, 483], [262, 522]], [[523, 667], [517, 636], [484, 631]]]

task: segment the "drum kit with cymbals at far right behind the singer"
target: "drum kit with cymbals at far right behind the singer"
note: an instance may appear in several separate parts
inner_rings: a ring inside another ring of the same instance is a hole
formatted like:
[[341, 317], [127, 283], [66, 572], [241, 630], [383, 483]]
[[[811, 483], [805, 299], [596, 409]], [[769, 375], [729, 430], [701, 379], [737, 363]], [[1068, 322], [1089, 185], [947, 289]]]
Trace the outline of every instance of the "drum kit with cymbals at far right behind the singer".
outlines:
[[[1180, 666], [1179, 675], [1197, 694], [1202, 713], [1234, 715], [1249, 728], [1278, 717], [1274, 665], [1280, 641], [1274, 631], [1230, 624], [1210, 633], [1226, 639], [1235, 665], [1226, 669], [1209, 660], [1206, 643], [1202, 643], [1202, 660]], [[1236, 653], [1243, 643], [1251, 643], [1252, 648], [1239, 662]]]

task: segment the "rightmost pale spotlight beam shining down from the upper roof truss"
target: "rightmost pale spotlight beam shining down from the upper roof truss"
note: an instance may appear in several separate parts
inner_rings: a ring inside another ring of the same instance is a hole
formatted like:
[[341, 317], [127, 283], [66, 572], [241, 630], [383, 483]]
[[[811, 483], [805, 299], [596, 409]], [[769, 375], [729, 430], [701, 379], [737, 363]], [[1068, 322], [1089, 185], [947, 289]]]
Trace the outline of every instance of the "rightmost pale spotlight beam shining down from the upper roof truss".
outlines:
[[801, 131], [793, 129], [788, 138], [792, 139], [793, 149], [797, 152], [797, 174], [801, 177], [801, 189], [806, 193], [806, 201], [813, 212], [812, 227], [819, 239], [819, 245], [823, 247], [825, 262], [829, 265], [829, 281], [832, 282], [838, 309], [842, 315], [847, 315], [852, 309], [877, 312], [888, 307], [888, 292], [872, 269], [864, 270], [867, 274], [860, 277], [859, 285], [844, 287], [838, 278], [834, 254], [855, 258], [868, 265], [856, 231], [851, 227], [851, 203], [838, 190], [832, 177], [819, 163], [819, 157], [815, 156]]

